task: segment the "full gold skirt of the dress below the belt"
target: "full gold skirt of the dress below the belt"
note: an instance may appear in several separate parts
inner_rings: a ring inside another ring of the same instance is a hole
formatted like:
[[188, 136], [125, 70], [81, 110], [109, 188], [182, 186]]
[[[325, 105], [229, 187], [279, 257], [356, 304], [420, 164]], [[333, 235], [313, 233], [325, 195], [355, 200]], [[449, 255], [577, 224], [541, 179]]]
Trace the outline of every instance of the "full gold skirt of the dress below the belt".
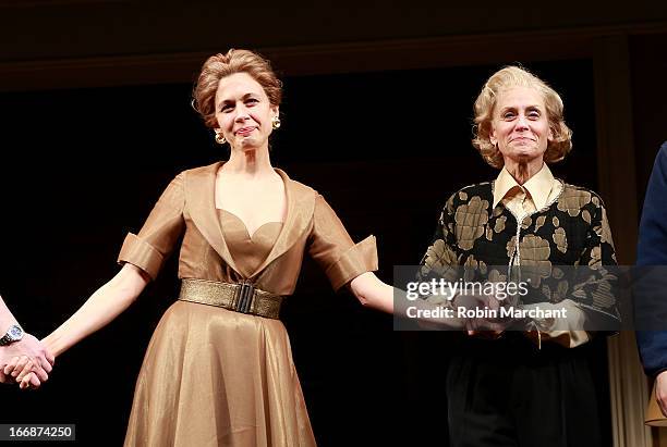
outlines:
[[137, 378], [125, 446], [314, 446], [279, 320], [177, 301]]

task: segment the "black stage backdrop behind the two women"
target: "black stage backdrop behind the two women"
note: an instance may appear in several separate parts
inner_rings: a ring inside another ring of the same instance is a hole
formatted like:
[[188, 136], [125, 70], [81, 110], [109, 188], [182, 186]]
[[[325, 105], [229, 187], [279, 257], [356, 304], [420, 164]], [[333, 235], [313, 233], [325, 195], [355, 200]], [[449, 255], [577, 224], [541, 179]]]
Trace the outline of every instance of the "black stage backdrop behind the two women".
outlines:
[[[555, 173], [596, 189], [592, 62], [526, 66], [561, 94], [574, 131]], [[287, 77], [272, 162], [319, 190], [353, 239], [377, 236], [378, 275], [390, 283], [395, 264], [420, 261], [447, 197], [495, 177], [470, 139], [472, 103], [498, 67]], [[190, 108], [191, 89], [0, 95], [0, 293], [26, 331], [46, 336], [118, 271], [125, 234], [175, 174], [226, 159]], [[124, 314], [62, 355], [43, 389], [0, 387], [2, 423], [75, 423], [77, 445], [121, 445], [145, 348], [178, 293], [177, 259]], [[391, 316], [335, 295], [310, 260], [283, 316], [319, 445], [446, 445], [452, 334], [393, 332]], [[586, 349], [607, 415], [605, 340]]]

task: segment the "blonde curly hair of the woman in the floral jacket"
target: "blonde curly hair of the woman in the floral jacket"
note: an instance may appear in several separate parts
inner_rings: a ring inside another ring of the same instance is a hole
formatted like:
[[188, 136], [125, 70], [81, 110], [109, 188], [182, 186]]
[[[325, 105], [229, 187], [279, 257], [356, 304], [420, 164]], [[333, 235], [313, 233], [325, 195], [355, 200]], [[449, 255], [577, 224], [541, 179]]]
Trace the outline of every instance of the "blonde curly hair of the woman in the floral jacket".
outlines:
[[544, 80], [516, 65], [506, 66], [494, 73], [484, 84], [475, 100], [475, 125], [472, 140], [475, 149], [492, 166], [501, 169], [505, 165], [502, 154], [490, 141], [492, 120], [498, 95], [512, 87], [534, 88], [542, 94], [553, 136], [547, 144], [544, 161], [554, 163], [562, 160], [572, 149], [572, 131], [565, 123], [562, 99]]

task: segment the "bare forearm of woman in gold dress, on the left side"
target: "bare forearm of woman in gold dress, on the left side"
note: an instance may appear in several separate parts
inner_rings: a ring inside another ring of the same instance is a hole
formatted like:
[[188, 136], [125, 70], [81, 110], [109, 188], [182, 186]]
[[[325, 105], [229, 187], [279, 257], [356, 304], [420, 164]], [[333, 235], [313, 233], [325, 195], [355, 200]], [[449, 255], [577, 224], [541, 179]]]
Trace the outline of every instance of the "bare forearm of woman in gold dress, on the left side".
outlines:
[[[134, 270], [128, 271], [130, 269]], [[128, 309], [146, 284], [145, 280], [137, 276], [135, 269], [126, 265], [110, 282], [97, 289], [68, 321], [44, 339], [47, 348], [54, 356], [59, 356]]]

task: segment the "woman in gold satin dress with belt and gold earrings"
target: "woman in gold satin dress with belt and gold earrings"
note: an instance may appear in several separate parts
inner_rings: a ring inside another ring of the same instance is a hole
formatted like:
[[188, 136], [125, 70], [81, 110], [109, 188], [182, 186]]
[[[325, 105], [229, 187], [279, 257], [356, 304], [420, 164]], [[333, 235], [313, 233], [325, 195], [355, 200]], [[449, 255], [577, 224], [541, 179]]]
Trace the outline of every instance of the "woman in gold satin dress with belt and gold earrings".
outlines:
[[[391, 312], [375, 238], [354, 244], [314, 189], [274, 169], [281, 84], [246, 50], [209, 58], [194, 104], [230, 158], [179, 174], [120, 272], [45, 339], [56, 356], [111, 322], [156, 278], [183, 237], [179, 299], [160, 320], [136, 382], [125, 446], [313, 446], [290, 342], [278, 319], [304, 251], [335, 289]], [[31, 374], [23, 377], [25, 384]]]

